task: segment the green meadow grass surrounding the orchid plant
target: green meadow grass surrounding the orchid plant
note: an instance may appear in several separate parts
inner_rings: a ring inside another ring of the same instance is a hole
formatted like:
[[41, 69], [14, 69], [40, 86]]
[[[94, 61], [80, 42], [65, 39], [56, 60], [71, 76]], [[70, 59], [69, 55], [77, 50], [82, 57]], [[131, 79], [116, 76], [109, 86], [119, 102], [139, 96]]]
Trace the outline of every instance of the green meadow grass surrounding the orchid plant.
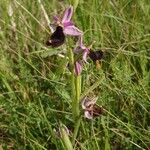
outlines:
[[[67, 1], [44, 0], [52, 16]], [[97, 70], [88, 60], [81, 97], [98, 96], [107, 112], [82, 118], [75, 149], [150, 149], [150, 3], [148, 0], [82, 0], [73, 20], [84, 42], [102, 49]], [[68, 60], [65, 46], [45, 46], [48, 24], [38, 1], [0, 1], [0, 147], [65, 149], [55, 136], [61, 123], [73, 137]], [[73, 45], [67, 47], [73, 48]]]

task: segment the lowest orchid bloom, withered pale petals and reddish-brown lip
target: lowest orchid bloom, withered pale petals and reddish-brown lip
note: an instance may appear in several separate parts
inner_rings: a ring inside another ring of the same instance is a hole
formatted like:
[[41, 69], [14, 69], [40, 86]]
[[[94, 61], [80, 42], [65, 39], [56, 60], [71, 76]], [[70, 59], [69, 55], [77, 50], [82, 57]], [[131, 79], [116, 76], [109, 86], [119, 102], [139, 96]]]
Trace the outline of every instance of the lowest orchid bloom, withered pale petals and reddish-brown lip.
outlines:
[[94, 117], [98, 117], [103, 114], [104, 110], [102, 107], [96, 105], [97, 99], [90, 99], [85, 97], [82, 100], [82, 109], [84, 110], [84, 117], [87, 119], [93, 119]]

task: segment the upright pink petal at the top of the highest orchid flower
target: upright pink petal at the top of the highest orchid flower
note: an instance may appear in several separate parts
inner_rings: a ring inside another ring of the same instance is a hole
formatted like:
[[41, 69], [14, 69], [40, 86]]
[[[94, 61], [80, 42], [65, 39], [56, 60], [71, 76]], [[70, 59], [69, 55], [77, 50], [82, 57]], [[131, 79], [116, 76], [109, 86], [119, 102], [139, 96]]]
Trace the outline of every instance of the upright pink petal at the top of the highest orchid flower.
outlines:
[[63, 16], [63, 19], [62, 19], [62, 23], [69, 22], [71, 17], [72, 17], [72, 14], [73, 14], [73, 7], [70, 6], [69, 8], [67, 8], [65, 10], [65, 13], [64, 13], [64, 16]]

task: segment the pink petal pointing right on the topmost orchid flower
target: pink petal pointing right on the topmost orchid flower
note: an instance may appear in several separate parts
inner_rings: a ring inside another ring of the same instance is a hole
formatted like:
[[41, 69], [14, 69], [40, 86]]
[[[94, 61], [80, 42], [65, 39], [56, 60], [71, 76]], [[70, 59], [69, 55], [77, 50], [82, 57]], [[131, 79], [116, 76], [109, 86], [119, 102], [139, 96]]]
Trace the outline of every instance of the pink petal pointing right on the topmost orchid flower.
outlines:
[[72, 35], [72, 36], [80, 36], [82, 35], [82, 31], [80, 31], [77, 27], [75, 26], [67, 26], [64, 28], [64, 33], [67, 35]]

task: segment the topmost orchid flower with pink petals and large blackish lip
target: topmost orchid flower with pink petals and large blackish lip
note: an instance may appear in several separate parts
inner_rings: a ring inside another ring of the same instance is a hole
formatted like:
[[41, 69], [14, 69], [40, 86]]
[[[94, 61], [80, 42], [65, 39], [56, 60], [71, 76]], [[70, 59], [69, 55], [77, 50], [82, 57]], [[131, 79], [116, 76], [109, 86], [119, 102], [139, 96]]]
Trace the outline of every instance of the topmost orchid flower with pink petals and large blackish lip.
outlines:
[[74, 26], [71, 21], [73, 15], [73, 7], [70, 6], [64, 12], [64, 16], [61, 18], [54, 16], [56, 24], [55, 32], [50, 36], [50, 39], [46, 42], [48, 46], [58, 47], [65, 42], [65, 35], [81, 36], [82, 31]]

